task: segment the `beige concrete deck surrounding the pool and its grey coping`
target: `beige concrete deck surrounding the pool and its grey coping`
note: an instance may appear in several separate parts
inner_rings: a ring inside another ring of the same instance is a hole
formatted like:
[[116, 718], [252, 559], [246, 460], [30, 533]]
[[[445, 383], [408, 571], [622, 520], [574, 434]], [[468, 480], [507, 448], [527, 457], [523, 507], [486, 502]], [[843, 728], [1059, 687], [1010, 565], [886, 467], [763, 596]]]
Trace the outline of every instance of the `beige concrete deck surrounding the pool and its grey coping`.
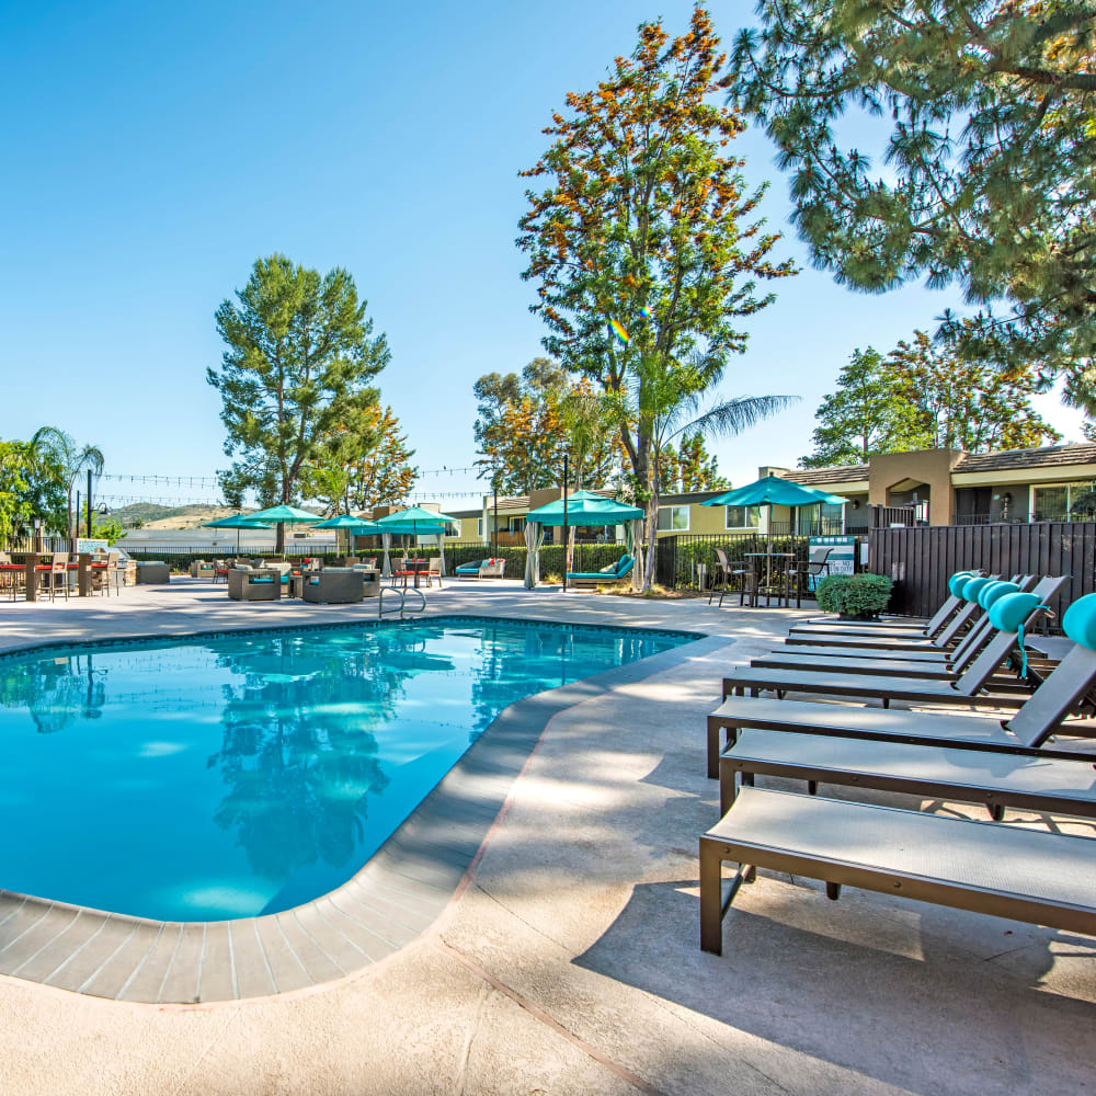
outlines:
[[[556, 712], [458, 895], [378, 962], [310, 989], [198, 1005], [0, 978], [2, 1091], [1091, 1089], [1092, 938], [857, 891], [832, 904], [813, 884], [770, 876], [737, 900], [724, 955], [699, 951], [697, 837], [717, 804], [704, 717], [726, 669], [800, 614], [516, 583], [446, 583], [429, 600], [439, 614], [711, 639]], [[0, 650], [375, 613], [240, 605], [224, 586], [173, 582], [116, 600], [0, 605]]]

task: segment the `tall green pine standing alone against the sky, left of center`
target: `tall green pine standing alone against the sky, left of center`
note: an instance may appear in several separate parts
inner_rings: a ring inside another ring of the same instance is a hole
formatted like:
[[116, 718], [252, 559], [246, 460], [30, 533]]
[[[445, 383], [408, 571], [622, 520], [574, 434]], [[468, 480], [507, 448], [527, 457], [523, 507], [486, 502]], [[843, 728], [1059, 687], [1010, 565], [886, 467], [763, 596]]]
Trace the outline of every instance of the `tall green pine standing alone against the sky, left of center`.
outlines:
[[[318, 447], [355, 410], [377, 402], [370, 381], [391, 354], [351, 275], [326, 275], [285, 255], [259, 259], [238, 304], [217, 309], [227, 349], [207, 379], [221, 398], [225, 453], [239, 454], [221, 475], [226, 501], [255, 491], [264, 505], [290, 503]], [[284, 548], [278, 527], [277, 550]]]

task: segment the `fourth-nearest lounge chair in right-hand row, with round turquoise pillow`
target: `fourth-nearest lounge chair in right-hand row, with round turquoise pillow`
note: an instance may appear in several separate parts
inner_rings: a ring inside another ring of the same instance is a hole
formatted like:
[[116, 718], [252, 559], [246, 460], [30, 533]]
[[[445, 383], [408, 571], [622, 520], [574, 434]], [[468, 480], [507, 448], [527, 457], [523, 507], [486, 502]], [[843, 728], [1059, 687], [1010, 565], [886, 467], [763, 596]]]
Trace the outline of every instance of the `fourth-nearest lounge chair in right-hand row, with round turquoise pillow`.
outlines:
[[[1065, 584], [1065, 579], [1044, 579], [1036, 589], [1039, 594], [1008, 594], [990, 608], [990, 620], [998, 629], [995, 636], [957, 681], [911, 680], [871, 674], [825, 673], [797, 670], [755, 670], [735, 667], [731, 677], [723, 678], [723, 696], [731, 692], [740, 696], [749, 689], [756, 695], [768, 689], [777, 696], [785, 693], [809, 693], [826, 696], [849, 696], [860, 699], [879, 699], [884, 708], [891, 700], [912, 704], [969, 704], [1018, 708], [1026, 697], [1019, 685], [1015, 690], [996, 684], [986, 692], [990, 678], [1016, 644], [1019, 629], [1028, 630], [1044, 612], [1041, 600], [1049, 600]], [[1019, 598], [1019, 601], [1017, 601]]]

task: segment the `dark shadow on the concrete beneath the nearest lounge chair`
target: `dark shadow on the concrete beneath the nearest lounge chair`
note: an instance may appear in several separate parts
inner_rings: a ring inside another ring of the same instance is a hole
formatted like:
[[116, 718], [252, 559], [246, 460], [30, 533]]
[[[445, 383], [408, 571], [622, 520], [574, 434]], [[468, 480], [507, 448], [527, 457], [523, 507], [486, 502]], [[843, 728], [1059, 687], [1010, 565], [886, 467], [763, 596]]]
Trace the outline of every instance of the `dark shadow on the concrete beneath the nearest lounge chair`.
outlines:
[[1091, 989], [1089, 937], [864, 892], [831, 905], [813, 886], [762, 876], [729, 912], [717, 957], [699, 949], [696, 886], [637, 886], [575, 962], [903, 1091], [1080, 1092], [1092, 1081], [1096, 1003], [1040, 985], [1053, 947], [1076, 950]]

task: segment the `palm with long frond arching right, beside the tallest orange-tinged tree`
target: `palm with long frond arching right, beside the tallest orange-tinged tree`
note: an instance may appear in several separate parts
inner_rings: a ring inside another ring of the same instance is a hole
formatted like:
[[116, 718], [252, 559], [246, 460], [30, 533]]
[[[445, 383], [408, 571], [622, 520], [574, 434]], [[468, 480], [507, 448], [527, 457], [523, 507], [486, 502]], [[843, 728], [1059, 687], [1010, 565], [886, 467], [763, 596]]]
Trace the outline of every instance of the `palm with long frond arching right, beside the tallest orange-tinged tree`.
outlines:
[[[722, 379], [723, 363], [697, 355], [690, 362], [674, 362], [662, 354], [643, 354], [637, 365], [628, 399], [628, 416], [651, 438], [650, 498], [647, 503], [648, 553], [643, 590], [654, 581], [654, 545], [659, 523], [659, 484], [662, 454], [683, 435], [728, 437], [740, 434], [763, 419], [783, 411], [798, 396], [739, 396], [719, 400], [706, 411], [701, 398]], [[718, 399], [718, 397], [717, 397]]]

